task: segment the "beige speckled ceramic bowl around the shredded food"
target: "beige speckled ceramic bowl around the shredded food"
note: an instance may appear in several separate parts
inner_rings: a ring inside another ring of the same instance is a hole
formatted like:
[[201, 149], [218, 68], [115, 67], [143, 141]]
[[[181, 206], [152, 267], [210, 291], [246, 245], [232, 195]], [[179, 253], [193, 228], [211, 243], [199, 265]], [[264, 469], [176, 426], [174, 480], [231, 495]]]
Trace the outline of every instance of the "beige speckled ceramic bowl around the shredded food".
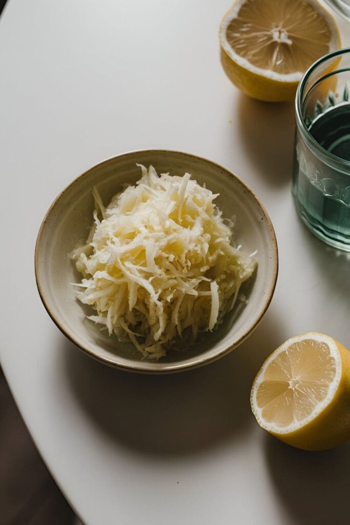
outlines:
[[[71, 283], [79, 282], [69, 254], [84, 244], [92, 225], [93, 197], [97, 186], [108, 203], [125, 183], [140, 178], [136, 163], [153, 164], [158, 173], [183, 175], [186, 171], [201, 185], [219, 193], [217, 205], [224, 217], [235, 216], [234, 238], [248, 254], [257, 250], [258, 268], [243, 285], [246, 302], [227, 314], [213, 333], [206, 332], [185, 351], [169, 351], [155, 362], [142, 360], [131, 343], [121, 343], [86, 318], [92, 308], [82, 305]], [[242, 343], [257, 327], [272, 299], [278, 272], [277, 242], [271, 220], [251, 190], [224, 167], [195, 155], [176, 151], [146, 150], [118, 155], [83, 173], [63, 190], [41, 224], [35, 273], [41, 300], [57, 327], [81, 350], [109, 365], [137, 372], [166, 373], [191, 369], [214, 361]]]

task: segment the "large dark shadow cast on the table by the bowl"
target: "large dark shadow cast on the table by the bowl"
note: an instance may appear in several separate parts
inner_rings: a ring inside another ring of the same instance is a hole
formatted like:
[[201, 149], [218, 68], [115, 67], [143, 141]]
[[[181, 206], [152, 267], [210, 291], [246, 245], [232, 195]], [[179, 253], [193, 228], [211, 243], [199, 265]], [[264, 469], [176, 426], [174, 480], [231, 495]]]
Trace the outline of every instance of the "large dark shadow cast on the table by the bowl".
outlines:
[[123, 372], [83, 355], [62, 338], [72, 394], [109, 438], [151, 456], [183, 456], [241, 438], [254, 422], [250, 388], [284, 335], [267, 314], [238, 349], [196, 370], [168, 375]]

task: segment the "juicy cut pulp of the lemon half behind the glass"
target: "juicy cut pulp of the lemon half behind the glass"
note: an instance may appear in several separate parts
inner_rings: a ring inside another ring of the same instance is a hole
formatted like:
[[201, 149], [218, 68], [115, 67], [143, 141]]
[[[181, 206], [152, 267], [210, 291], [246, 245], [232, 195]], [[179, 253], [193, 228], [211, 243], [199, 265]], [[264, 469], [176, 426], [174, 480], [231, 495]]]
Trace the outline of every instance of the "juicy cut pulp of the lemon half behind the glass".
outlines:
[[305, 0], [247, 0], [226, 35], [250, 64], [281, 75], [305, 71], [332, 40], [326, 18]]

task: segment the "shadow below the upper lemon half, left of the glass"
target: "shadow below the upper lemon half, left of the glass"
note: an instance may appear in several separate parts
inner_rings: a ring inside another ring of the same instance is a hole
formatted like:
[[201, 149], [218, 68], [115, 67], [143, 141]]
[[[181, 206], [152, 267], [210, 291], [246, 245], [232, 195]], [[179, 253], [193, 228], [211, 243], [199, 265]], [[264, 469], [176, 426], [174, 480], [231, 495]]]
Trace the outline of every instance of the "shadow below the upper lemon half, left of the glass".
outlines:
[[[292, 102], [261, 102], [241, 94], [236, 140], [271, 186], [292, 181], [295, 112]], [[235, 144], [237, 148], [237, 144]]]

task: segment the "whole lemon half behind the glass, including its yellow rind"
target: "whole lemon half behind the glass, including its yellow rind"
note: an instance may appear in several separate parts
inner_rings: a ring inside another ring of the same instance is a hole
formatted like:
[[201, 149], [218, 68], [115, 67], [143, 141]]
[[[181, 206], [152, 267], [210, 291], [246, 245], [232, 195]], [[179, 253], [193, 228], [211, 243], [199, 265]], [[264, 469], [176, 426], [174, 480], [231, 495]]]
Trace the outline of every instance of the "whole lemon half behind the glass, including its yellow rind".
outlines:
[[341, 45], [333, 17], [315, 0], [237, 0], [219, 36], [228, 77], [266, 101], [293, 100], [306, 69]]

